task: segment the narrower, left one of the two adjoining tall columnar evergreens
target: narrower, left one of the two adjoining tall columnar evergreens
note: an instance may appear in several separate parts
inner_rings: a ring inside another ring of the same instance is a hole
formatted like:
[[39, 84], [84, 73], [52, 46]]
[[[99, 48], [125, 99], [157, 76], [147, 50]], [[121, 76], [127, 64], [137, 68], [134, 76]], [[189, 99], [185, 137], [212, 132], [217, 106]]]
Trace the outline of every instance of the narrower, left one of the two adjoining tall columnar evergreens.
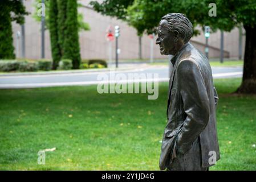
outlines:
[[58, 26], [58, 3], [57, 0], [51, 0], [49, 5], [49, 19], [48, 26], [50, 30], [50, 39], [51, 39], [51, 55], [52, 55], [52, 69], [58, 67], [59, 61], [62, 57], [62, 52], [59, 44], [59, 28]]

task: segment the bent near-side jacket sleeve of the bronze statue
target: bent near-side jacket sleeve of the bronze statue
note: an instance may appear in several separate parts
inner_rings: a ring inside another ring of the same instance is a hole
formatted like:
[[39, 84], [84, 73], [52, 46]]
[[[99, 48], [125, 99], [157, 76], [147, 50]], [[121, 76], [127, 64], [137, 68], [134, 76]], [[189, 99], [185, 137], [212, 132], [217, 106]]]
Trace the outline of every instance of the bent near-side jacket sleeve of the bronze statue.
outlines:
[[186, 113], [177, 137], [177, 150], [185, 154], [208, 124], [210, 106], [205, 82], [196, 63], [182, 60], [177, 68], [177, 79]]

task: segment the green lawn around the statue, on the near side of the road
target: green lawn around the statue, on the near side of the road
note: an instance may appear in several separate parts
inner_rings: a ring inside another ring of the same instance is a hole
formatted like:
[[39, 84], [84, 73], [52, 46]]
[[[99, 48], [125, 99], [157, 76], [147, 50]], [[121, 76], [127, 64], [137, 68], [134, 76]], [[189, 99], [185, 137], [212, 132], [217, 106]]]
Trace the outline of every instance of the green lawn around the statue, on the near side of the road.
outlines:
[[[229, 94], [240, 82], [215, 80], [221, 160], [211, 170], [256, 169], [256, 96]], [[159, 170], [167, 90], [157, 100], [96, 86], [0, 90], [0, 169]]]

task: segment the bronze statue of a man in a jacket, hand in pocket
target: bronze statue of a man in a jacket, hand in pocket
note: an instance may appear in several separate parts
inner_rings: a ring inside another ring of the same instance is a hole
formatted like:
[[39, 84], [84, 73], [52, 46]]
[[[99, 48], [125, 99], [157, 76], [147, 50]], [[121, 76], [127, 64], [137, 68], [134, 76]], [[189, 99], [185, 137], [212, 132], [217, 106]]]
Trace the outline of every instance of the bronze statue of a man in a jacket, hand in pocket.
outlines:
[[218, 95], [208, 59], [189, 43], [192, 34], [192, 23], [184, 14], [167, 14], [159, 23], [156, 44], [161, 54], [174, 55], [161, 170], [208, 170], [220, 159]]

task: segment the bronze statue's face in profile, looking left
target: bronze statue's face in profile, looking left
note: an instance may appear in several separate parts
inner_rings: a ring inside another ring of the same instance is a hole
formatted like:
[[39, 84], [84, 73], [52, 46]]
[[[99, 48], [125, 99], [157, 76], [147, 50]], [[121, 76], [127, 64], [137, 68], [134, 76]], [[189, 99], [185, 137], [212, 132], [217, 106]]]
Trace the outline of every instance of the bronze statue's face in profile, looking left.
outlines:
[[175, 36], [173, 32], [168, 32], [167, 24], [165, 19], [159, 23], [156, 44], [160, 46], [161, 55], [175, 55], [177, 52], [176, 42], [174, 42]]

